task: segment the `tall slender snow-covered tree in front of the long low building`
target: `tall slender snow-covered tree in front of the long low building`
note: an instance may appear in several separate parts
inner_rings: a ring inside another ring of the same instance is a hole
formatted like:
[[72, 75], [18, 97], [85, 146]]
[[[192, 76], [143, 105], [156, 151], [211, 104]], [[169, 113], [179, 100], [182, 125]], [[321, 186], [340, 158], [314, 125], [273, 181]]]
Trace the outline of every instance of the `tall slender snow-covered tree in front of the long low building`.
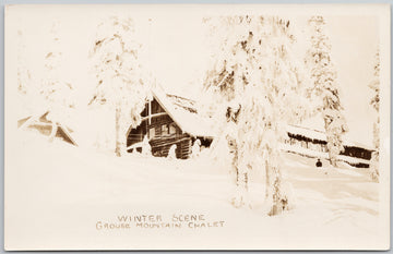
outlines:
[[324, 31], [323, 16], [312, 16], [309, 26], [311, 47], [307, 52], [306, 63], [313, 82], [310, 96], [319, 101], [317, 111], [322, 113], [324, 121], [330, 162], [332, 166], [337, 166], [337, 156], [344, 150], [343, 134], [347, 132], [347, 125], [340, 101], [337, 73], [331, 59], [332, 46]]

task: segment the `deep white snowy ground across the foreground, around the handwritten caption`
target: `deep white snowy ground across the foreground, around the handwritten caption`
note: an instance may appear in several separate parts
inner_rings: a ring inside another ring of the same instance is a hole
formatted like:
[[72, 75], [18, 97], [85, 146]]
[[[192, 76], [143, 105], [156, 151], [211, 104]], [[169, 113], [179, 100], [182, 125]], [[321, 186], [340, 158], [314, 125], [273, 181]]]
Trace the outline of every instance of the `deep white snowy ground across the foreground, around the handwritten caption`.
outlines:
[[[33, 132], [8, 147], [5, 246], [19, 249], [372, 249], [380, 235], [378, 183], [367, 169], [314, 167], [285, 154], [296, 208], [263, 213], [262, 173], [251, 176], [253, 208], [230, 205], [227, 170], [207, 159], [168, 160], [48, 143]], [[23, 141], [23, 142], [22, 142]], [[15, 156], [15, 157], [13, 157]], [[17, 156], [17, 157], [16, 157]], [[327, 165], [326, 161], [322, 161]], [[10, 167], [12, 165], [12, 168]], [[100, 229], [122, 215], [202, 214], [224, 227]]]

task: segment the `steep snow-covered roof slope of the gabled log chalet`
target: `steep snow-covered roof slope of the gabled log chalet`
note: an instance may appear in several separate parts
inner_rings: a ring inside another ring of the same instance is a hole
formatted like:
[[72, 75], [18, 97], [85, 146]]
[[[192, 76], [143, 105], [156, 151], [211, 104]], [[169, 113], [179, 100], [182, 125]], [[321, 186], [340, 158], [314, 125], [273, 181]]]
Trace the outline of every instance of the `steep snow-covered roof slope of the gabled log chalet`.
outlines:
[[216, 136], [216, 128], [213, 121], [198, 113], [194, 107], [195, 101], [168, 95], [162, 89], [154, 89], [153, 96], [183, 132], [192, 136]]

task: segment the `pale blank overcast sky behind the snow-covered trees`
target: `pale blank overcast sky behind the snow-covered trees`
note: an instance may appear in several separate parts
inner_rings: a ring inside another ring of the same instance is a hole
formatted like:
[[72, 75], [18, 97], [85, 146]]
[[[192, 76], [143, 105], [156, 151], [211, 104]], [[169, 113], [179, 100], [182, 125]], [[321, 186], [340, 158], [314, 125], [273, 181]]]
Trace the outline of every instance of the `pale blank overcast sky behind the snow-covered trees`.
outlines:
[[[205, 11], [203, 8], [194, 8], [192, 11], [174, 13], [170, 8], [159, 9], [153, 5], [151, 10], [135, 12], [130, 9], [126, 12], [124, 8], [31, 7], [15, 10], [11, 16], [9, 14], [8, 21], [15, 24], [14, 35], [17, 29], [23, 32], [26, 62], [36, 77], [43, 73], [51, 24], [59, 21], [58, 34], [63, 49], [64, 73], [75, 86], [87, 88], [95, 84], [88, 50], [97, 24], [119, 12], [129, 14], [134, 17], [139, 38], [143, 40], [143, 65], [148, 68], [157, 82], [169, 92], [194, 97], [211, 63], [211, 49], [201, 23], [201, 19], [206, 15]], [[147, 17], [152, 17], [151, 23]], [[295, 48], [300, 51], [306, 39], [307, 17], [293, 17], [297, 35]], [[379, 36], [377, 19], [365, 15], [325, 17], [333, 47], [332, 58], [342, 89], [342, 102], [349, 126], [348, 137], [371, 145], [376, 113], [369, 105], [371, 93], [368, 84], [372, 78]]]

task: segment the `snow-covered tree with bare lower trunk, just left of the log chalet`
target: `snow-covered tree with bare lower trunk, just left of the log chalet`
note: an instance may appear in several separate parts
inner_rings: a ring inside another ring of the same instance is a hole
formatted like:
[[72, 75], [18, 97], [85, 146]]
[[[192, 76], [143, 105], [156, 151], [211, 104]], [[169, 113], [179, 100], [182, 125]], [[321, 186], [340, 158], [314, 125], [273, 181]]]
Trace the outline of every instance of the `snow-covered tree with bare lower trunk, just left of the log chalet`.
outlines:
[[98, 25], [91, 52], [97, 78], [92, 101], [115, 110], [117, 156], [126, 150], [127, 128], [141, 123], [141, 111], [150, 92], [150, 84], [143, 81], [140, 48], [132, 19], [112, 16]]

